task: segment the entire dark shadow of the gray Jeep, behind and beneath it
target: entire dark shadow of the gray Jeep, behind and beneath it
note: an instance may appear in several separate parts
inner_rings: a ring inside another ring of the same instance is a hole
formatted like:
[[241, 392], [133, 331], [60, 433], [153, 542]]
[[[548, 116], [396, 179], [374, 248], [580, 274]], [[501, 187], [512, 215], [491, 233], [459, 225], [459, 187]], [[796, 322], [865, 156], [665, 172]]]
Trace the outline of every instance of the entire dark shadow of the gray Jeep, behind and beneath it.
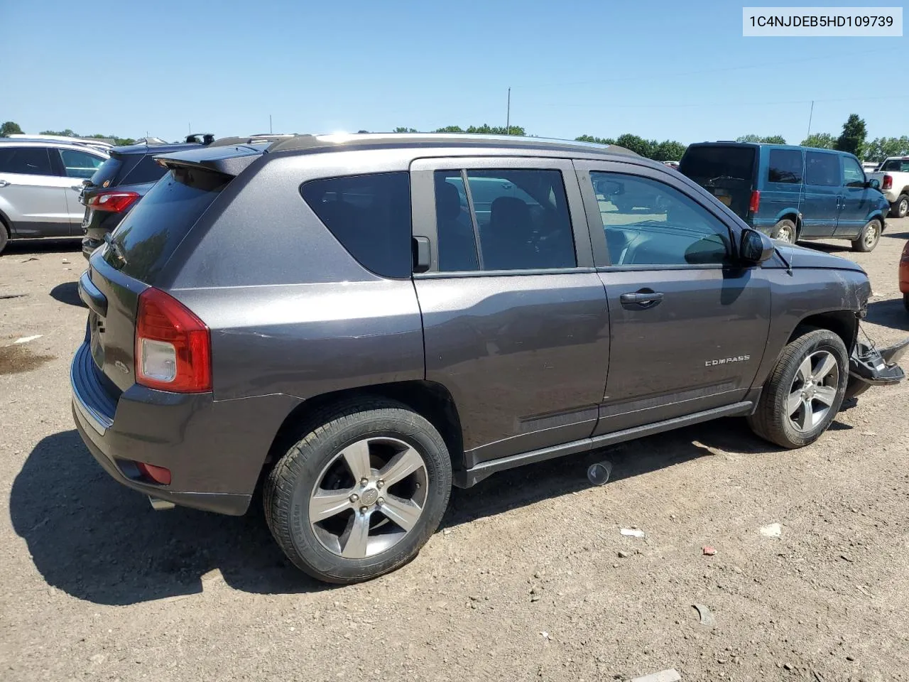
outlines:
[[[752, 435], [743, 419], [721, 419], [516, 468], [467, 490], [454, 489], [441, 527], [581, 490], [591, 485], [586, 470], [597, 461], [613, 463], [614, 481], [684, 466], [716, 455], [717, 448], [745, 455], [779, 451]], [[72, 430], [35, 446], [13, 483], [10, 517], [47, 584], [97, 604], [124, 606], [198, 594], [221, 577], [228, 586], [255, 594], [330, 589], [290, 564], [257, 502], [245, 517], [179, 506], [154, 512], [144, 496], [108, 476]]]

